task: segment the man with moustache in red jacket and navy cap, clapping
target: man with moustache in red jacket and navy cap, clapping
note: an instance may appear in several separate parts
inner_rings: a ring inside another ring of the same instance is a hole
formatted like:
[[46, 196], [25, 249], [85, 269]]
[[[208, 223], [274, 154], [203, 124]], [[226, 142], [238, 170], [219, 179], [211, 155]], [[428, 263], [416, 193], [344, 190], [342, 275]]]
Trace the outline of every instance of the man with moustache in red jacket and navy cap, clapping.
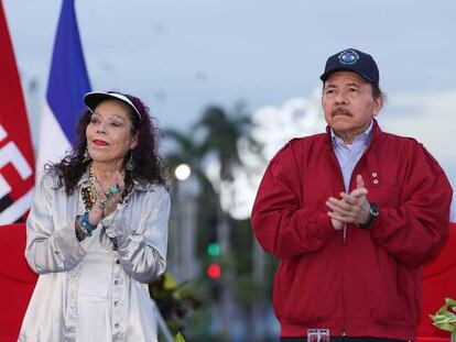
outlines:
[[332, 341], [409, 341], [421, 315], [422, 265], [448, 234], [453, 190], [415, 140], [382, 132], [373, 58], [327, 59], [326, 133], [290, 141], [270, 162], [252, 210], [278, 257], [281, 341], [329, 329]]

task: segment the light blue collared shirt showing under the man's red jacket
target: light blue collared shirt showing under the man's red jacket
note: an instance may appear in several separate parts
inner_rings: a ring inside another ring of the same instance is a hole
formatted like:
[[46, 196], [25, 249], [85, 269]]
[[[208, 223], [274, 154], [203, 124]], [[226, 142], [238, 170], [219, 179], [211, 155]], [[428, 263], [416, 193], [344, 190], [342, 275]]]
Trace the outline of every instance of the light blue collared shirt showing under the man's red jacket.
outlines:
[[354, 168], [362, 156], [365, 151], [369, 147], [372, 140], [372, 126], [373, 121], [370, 122], [366, 132], [355, 137], [351, 144], [345, 144], [340, 137], [337, 137], [333, 129], [330, 130], [330, 136], [333, 140], [333, 148], [336, 153], [337, 161], [339, 162], [340, 170], [344, 176], [345, 191], [348, 194], [350, 188], [350, 178], [354, 173]]

